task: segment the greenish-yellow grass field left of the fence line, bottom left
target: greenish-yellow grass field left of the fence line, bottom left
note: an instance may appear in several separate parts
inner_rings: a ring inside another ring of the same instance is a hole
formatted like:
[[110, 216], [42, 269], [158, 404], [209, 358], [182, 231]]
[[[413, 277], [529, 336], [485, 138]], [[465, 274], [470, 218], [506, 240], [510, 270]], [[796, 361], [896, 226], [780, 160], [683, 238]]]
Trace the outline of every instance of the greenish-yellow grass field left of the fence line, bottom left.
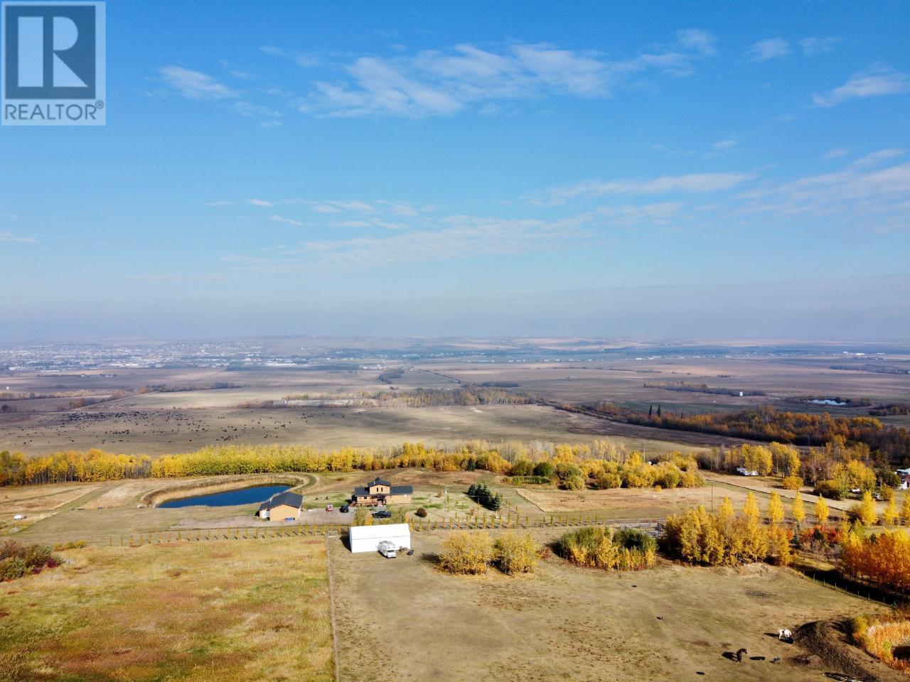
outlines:
[[0, 680], [333, 680], [321, 538], [97, 547], [0, 584]]

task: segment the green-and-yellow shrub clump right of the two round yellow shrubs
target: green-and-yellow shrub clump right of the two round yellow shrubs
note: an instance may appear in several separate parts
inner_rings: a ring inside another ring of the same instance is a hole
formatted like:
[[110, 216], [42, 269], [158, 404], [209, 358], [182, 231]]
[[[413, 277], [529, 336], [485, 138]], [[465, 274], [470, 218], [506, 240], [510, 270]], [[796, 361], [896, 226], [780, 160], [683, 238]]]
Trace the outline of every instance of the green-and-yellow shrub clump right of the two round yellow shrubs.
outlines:
[[579, 566], [604, 570], [651, 568], [657, 562], [654, 538], [631, 528], [579, 528], [559, 539], [556, 552]]

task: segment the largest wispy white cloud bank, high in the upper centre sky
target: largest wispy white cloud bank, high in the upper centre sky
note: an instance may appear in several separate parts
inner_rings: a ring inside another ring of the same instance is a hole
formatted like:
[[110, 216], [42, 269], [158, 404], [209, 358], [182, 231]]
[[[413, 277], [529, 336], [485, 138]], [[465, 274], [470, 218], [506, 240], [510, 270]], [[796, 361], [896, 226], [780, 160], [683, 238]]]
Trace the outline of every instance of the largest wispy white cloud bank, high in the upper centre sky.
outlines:
[[[453, 115], [473, 105], [489, 111], [499, 101], [548, 95], [607, 97], [639, 78], [691, 75], [697, 61], [713, 55], [714, 43], [707, 31], [687, 29], [667, 45], [620, 60], [523, 43], [501, 49], [463, 44], [415, 55], [360, 56], [335, 65], [341, 77], [316, 81], [298, 108], [325, 116], [420, 118]], [[288, 56], [278, 48], [263, 50]]]

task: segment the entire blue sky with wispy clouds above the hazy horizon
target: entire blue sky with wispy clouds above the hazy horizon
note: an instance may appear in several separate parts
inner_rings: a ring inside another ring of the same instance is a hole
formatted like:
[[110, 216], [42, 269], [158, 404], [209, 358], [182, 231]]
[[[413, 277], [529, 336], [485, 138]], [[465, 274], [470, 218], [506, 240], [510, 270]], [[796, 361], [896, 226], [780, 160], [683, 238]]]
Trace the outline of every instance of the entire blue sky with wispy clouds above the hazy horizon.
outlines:
[[905, 2], [107, 4], [0, 337], [910, 336]]

